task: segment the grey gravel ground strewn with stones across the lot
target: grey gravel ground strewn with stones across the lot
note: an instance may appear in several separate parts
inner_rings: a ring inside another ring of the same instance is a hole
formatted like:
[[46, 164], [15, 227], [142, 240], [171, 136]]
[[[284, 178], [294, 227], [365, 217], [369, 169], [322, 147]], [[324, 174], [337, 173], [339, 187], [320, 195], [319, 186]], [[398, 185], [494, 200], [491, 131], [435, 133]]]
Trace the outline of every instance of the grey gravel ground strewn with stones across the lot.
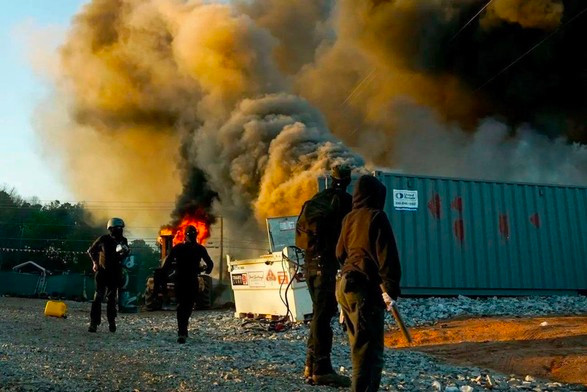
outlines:
[[[301, 377], [306, 325], [273, 333], [241, 327], [232, 311], [194, 312], [176, 343], [174, 312], [121, 314], [119, 328], [89, 334], [89, 303], [67, 302], [67, 319], [43, 316], [44, 300], [0, 297], [2, 391], [326, 391]], [[402, 299], [410, 325], [463, 315], [587, 314], [585, 297]], [[390, 322], [390, 320], [388, 320]], [[349, 375], [346, 335], [335, 327], [333, 363]], [[480, 353], [481, 354], [481, 353]], [[579, 385], [456, 367], [409, 350], [385, 351], [382, 390], [586, 391]]]

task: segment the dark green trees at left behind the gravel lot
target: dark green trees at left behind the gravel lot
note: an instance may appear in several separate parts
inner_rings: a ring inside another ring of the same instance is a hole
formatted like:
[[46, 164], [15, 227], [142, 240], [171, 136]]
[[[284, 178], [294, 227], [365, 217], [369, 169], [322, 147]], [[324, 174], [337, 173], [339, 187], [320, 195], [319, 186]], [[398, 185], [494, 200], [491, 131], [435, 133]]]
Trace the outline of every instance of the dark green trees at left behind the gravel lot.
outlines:
[[[25, 200], [14, 189], [0, 188], [0, 270], [34, 261], [52, 273], [89, 273], [85, 254], [104, 234], [82, 203]], [[131, 242], [135, 258], [146, 267], [158, 264], [158, 252], [144, 240]]]

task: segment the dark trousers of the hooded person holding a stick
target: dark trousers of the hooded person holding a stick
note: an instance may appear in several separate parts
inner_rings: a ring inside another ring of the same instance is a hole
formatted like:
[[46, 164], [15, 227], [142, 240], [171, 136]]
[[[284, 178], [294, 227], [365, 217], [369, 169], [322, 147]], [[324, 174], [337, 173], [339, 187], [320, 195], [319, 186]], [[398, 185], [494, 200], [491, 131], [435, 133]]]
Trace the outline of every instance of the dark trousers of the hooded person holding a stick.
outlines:
[[345, 274], [336, 288], [342, 308], [353, 364], [351, 391], [376, 391], [383, 370], [385, 310], [366, 282]]

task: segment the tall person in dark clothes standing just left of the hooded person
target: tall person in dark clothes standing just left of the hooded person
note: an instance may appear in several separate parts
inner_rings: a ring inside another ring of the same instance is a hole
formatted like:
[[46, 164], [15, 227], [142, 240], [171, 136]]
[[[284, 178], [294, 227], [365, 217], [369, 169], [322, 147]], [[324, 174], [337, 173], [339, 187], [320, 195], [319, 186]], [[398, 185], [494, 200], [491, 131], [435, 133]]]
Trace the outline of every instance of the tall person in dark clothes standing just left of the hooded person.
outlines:
[[[340, 265], [335, 256], [336, 243], [342, 219], [352, 208], [352, 197], [346, 192], [351, 182], [350, 167], [335, 166], [330, 179], [330, 187], [304, 203], [296, 226], [296, 245], [305, 252], [304, 273], [313, 309], [304, 378], [309, 384], [348, 387], [350, 379], [332, 367], [330, 322], [337, 313], [335, 287]], [[306, 227], [301, 227], [304, 224]]]

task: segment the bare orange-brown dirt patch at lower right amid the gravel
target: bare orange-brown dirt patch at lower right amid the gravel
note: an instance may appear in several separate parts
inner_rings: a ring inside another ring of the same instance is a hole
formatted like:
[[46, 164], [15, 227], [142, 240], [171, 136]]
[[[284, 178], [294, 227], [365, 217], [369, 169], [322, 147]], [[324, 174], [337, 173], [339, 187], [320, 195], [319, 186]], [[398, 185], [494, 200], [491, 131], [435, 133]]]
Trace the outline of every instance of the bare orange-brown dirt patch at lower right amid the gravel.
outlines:
[[587, 385], [587, 316], [454, 319], [399, 330], [385, 344], [426, 352], [448, 362]]

